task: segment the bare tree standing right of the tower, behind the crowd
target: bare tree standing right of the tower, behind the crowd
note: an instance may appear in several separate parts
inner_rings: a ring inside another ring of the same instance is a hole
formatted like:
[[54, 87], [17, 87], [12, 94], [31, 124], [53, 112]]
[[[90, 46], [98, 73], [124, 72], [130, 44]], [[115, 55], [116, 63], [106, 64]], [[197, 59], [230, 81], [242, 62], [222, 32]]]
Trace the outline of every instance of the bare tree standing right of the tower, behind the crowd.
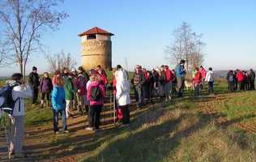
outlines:
[[203, 63], [203, 47], [206, 45], [201, 41], [202, 34], [192, 32], [190, 24], [183, 22], [180, 28], [173, 31], [173, 43], [166, 46], [164, 58], [171, 64], [177, 65], [181, 59], [186, 61], [186, 69], [194, 68]]

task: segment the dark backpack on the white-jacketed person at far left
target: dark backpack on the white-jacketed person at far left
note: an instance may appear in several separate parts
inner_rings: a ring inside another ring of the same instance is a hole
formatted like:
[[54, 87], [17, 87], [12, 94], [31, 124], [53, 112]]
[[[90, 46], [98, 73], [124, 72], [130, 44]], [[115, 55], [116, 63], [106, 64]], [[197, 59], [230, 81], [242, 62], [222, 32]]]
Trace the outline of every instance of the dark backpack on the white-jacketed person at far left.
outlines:
[[17, 98], [16, 100], [12, 99], [12, 89], [15, 86], [11, 85], [6, 85], [0, 89], [0, 97], [3, 98], [3, 103], [0, 105], [0, 108], [9, 108], [8, 113], [12, 114], [13, 109], [15, 108], [15, 102], [19, 99]]

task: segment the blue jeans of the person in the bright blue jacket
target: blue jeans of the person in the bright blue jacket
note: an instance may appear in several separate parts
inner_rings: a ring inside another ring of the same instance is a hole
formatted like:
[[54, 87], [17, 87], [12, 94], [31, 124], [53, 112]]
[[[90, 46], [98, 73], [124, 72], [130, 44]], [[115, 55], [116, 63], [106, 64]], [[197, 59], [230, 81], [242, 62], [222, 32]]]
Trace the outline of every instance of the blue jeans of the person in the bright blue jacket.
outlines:
[[62, 110], [53, 109], [53, 131], [54, 132], [59, 131], [59, 129], [58, 129], [58, 113], [61, 113], [61, 115], [62, 115], [62, 131], [64, 132], [65, 130], [67, 130], [67, 128], [66, 128], [66, 110], [65, 109], [62, 109]]

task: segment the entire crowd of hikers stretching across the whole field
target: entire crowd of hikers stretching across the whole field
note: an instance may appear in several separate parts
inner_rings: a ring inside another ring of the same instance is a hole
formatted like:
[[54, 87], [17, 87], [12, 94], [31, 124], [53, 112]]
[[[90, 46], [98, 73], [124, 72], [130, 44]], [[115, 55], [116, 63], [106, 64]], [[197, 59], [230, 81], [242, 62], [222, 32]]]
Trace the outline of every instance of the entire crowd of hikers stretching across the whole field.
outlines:
[[[134, 66], [134, 74], [128, 72], [117, 65], [112, 69], [113, 81], [109, 83], [105, 70], [98, 65], [96, 69], [87, 72], [82, 66], [70, 71], [65, 67], [63, 70], [56, 70], [53, 79], [49, 78], [48, 72], [40, 79], [36, 66], [32, 67], [32, 72], [28, 75], [28, 83], [23, 81], [23, 75], [16, 73], [11, 76], [13, 89], [13, 99], [15, 103], [14, 113], [10, 127], [10, 155], [15, 157], [26, 157], [22, 151], [22, 140], [24, 131], [24, 98], [32, 98], [32, 106], [37, 104], [38, 93], [41, 92], [40, 108], [51, 107], [53, 110], [53, 132], [59, 134], [58, 117], [62, 118], [62, 133], [68, 133], [66, 120], [74, 116], [71, 109], [78, 109], [80, 115], [87, 114], [88, 131], [100, 131], [100, 113], [104, 110], [106, 91], [109, 90], [115, 100], [117, 108], [116, 123], [122, 123], [120, 127], [130, 125], [130, 87], [134, 89], [134, 98], [137, 109], [143, 109], [146, 103], [150, 103], [156, 97], [161, 100], [172, 100], [173, 97], [181, 98], [186, 85], [185, 60], [181, 60], [175, 69], [170, 70], [169, 66], [160, 66], [146, 70], [142, 66]], [[237, 88], [241, 91], [254, 90], [254, 70], [250, 72], [244, 70], [229, 70], [226, 79], [228, 80], [228, 90], [233, 92]], [[203, 66], [192, 70], [191, 84], [194, 88], [194, 96], [198, 96], [200, 90], [206, 88], [209, 93], [214, 93], [213, 83], [215, 81], [214, 72], [211, 67], [206, 71]], [[130, 85], [131, 83], [131, 85]], [[45, 102], [46, 96], [46, 102]], [[14, 122], [16, 121], [16, 122]], [[19, 122], [17, 122], [19, 121]]]

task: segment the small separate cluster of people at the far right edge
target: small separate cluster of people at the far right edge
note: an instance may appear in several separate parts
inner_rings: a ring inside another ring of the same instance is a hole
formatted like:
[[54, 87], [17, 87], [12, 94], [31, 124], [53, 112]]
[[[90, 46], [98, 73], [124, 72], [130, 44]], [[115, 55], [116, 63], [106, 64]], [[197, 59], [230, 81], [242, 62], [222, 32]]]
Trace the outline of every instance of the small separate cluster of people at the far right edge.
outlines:
[[255, 73], [253, 69], [250, 69], [249, 72], [245, 70], [228, 70], [226, 76], [228, 80], [228, 90], [230, 92], [237, 91], [238, 86], [240, 91], [255, 90]]

